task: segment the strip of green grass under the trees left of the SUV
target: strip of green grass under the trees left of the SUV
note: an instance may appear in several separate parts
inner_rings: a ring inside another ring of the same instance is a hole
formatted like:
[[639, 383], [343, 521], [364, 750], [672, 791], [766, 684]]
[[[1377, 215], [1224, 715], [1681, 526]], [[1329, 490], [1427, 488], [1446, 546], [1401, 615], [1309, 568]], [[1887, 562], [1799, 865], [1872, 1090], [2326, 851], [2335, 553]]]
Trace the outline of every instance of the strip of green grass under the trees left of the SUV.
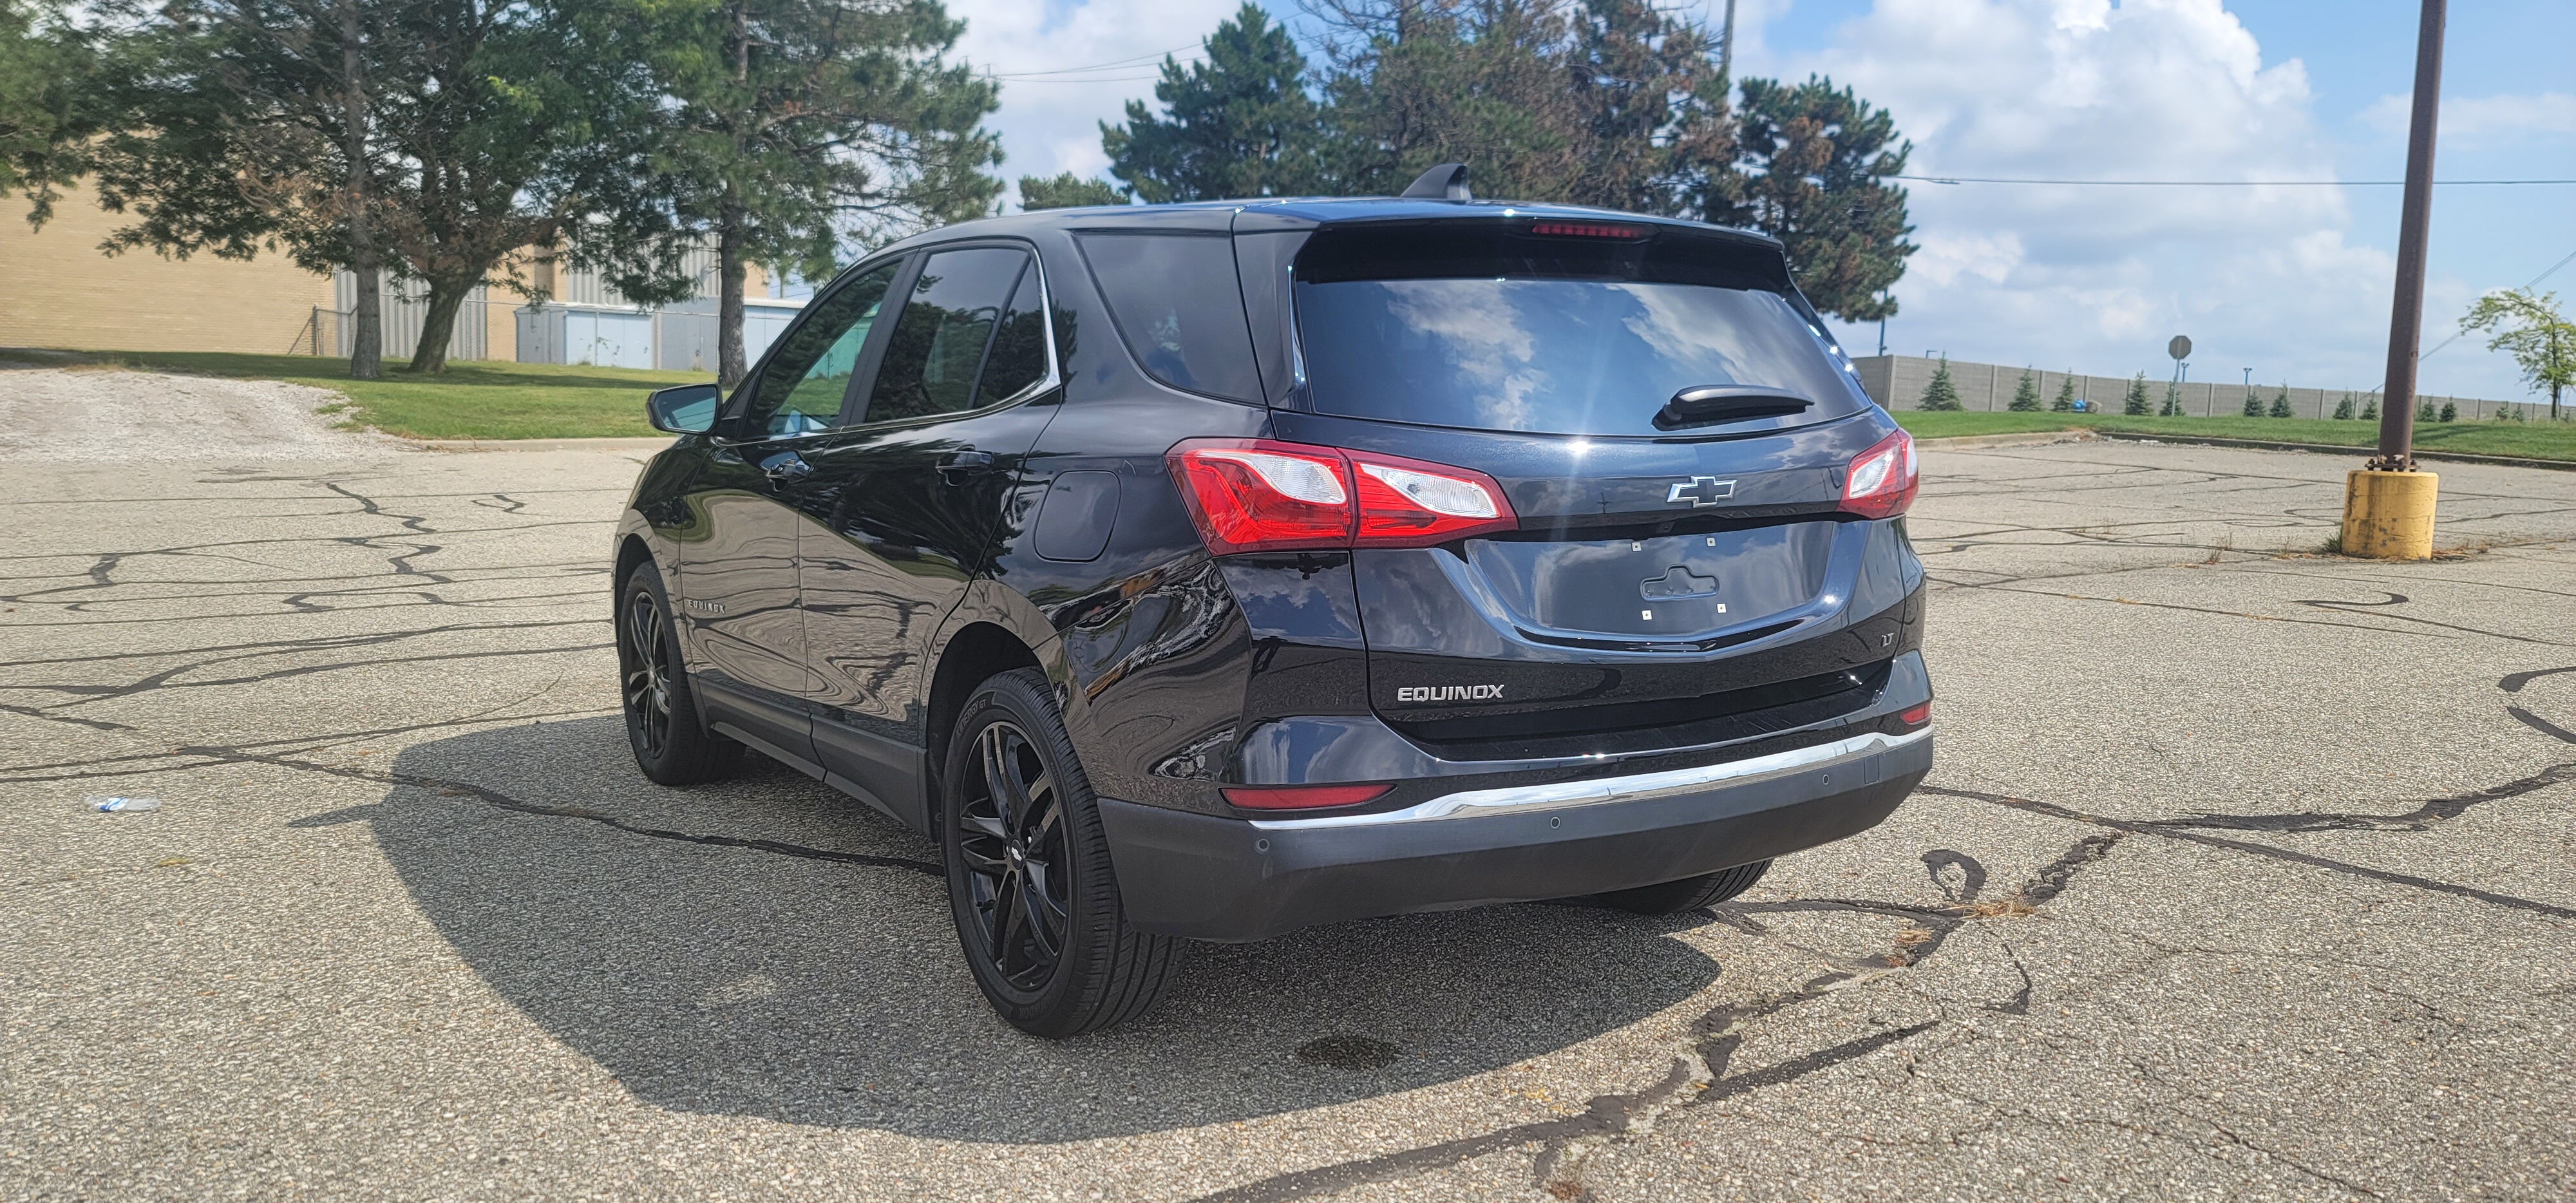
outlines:
[[698, 371], [634, 371], [562, 363], [453, 361], [438, 376], [410, 376], [399, 358], [384, 361], [384, 379], [348, 379], [345, 358], [229, 355], [160, 350], [21, 350], [15, 363], [183, 371], [312, 384], [348, 397], [345, 410], [325, 407], [350, 428], [376, 428], [404, 438], [603, 438], [652, 435], [644, 394], [670, 384], [703, 384]]

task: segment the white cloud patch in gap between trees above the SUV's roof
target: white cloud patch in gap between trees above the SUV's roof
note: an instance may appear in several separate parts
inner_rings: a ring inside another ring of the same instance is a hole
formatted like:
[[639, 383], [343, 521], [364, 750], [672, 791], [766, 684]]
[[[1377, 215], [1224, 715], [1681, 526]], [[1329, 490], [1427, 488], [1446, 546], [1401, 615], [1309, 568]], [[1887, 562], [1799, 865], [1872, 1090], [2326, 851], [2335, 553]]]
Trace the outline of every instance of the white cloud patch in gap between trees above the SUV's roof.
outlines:
[[1064, 170], [1105, 178], [1100, 121], [1121, 121], [1131, 98], [1151, 103], [1162, 54], [1195, 59], [1198, 41], [1236, 8], [1239, 0], [951, 0], [948, 15], [966, 21], [958, 54], [1002, 77], [1002, 111], [987, 121], [1002, 134], [1002, 178]]

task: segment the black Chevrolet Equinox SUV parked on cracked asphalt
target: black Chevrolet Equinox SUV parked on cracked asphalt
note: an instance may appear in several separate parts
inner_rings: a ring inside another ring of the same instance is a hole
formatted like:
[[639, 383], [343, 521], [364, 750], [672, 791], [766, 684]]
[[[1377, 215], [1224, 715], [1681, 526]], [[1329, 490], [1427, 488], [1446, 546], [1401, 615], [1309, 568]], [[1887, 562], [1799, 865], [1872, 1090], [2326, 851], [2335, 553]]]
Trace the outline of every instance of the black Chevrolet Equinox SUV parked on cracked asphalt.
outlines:
[[938, 229], [654, 394], [644, 773], [752, 747], [933, 835], [1038, 1036], [1182, 938], [1677, 912], [1880, 822], [1932, 765], [1914, 443], [1780, 245], [1427, 193]]

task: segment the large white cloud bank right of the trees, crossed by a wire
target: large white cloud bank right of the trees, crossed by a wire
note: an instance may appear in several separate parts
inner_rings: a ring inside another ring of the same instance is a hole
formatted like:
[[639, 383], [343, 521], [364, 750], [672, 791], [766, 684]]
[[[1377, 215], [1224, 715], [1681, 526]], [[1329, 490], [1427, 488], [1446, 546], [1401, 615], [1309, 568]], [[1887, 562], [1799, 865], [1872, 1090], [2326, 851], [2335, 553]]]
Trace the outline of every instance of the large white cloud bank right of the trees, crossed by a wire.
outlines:
[[[1891, 108], [1909, 175], [2334, 180], [2306, 64], [2264, 62], [2221, 0], [1878, 0], [1824, 52], [1747, 70]], [[2164, 379], [2179, 332], [2192, 379], [2316, 386], [2370, 386], [2385, 361], [2393, 258], [2349, 240], [2342, 188], [1914, 183], [1911, 214], [1888, 350]], [[2468, 289], [2427, 301], [2432, 345]]]

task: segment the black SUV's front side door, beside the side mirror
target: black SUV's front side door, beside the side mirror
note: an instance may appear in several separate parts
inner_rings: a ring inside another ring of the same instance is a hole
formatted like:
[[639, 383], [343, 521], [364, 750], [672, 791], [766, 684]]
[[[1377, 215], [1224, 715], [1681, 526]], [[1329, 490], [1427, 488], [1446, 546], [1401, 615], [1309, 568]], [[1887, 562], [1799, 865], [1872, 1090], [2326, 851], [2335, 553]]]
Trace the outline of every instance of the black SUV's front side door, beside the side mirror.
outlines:
[[742, 440], [708, 451], [690, 487], [693, 531], [680, 538], [680, 613], [711, 719], [791, 763], [814, 763], [799, 515], [791, 492], [840, 420], [871, 319], [902, 263], [817, 299], [762, 363], [732, 422]]

